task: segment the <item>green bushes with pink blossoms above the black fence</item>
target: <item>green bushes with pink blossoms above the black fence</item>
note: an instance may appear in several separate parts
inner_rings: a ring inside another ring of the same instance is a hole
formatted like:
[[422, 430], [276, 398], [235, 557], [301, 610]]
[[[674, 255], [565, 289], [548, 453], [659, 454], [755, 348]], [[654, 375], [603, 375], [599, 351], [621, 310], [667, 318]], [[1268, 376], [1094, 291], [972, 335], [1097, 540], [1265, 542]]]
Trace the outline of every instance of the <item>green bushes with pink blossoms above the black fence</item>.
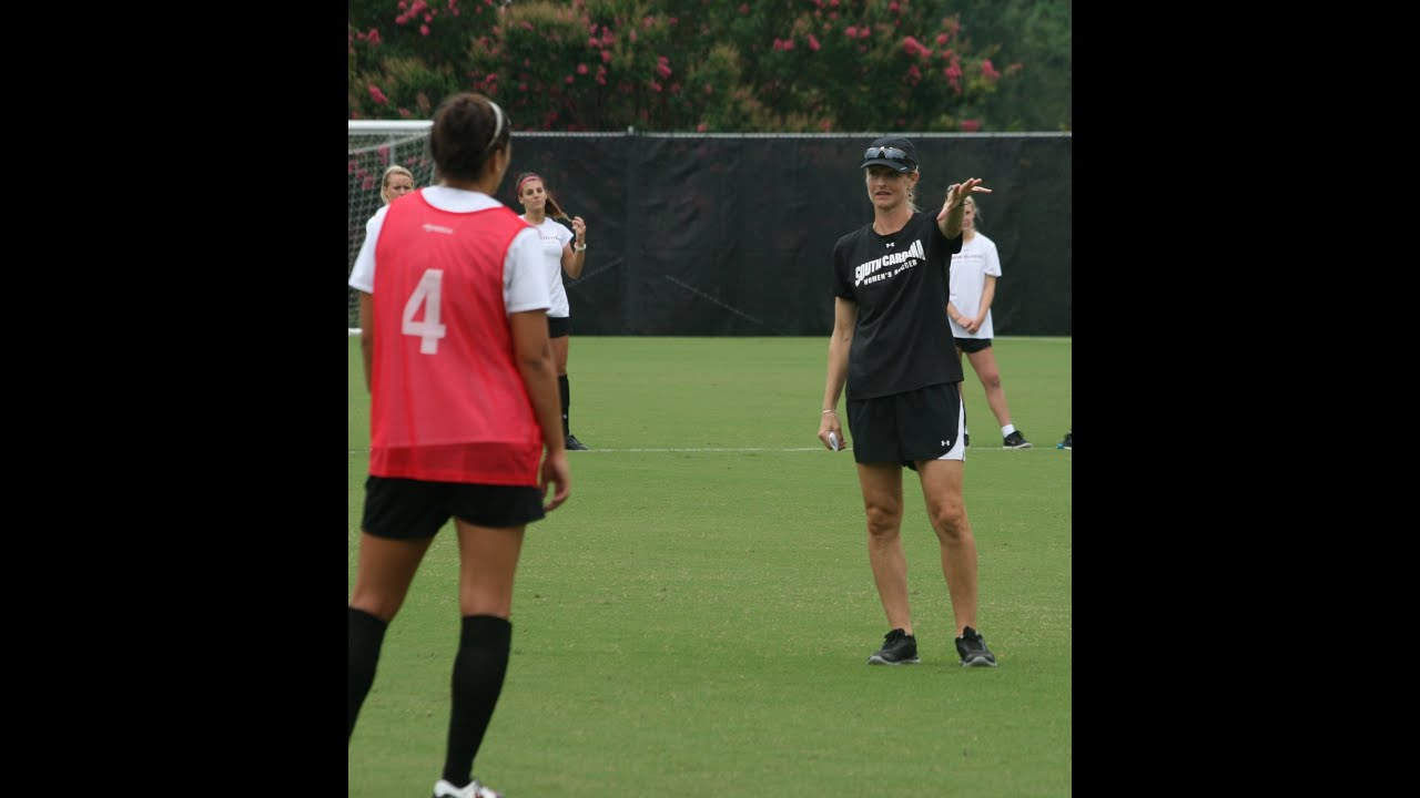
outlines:
[[[966, 37], [963, 16], [947, 9], [926, 0], [351, 0], [349, 115], [427, 118], [444, 95], [474, 89], [531, 131], [1020, 124], [990, 99], [1025, 65], [994, 61], [1000, 44]], [[1065, 30], [1068, 41], [1068, 0]]]

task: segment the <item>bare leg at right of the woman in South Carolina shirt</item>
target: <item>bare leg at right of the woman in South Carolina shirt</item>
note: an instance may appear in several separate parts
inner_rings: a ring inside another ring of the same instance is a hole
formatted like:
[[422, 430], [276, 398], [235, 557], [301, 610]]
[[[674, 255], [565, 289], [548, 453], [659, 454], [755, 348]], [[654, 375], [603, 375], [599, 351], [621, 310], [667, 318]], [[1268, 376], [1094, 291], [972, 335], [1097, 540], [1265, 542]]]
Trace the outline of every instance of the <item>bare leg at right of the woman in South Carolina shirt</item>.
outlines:
[[917, 476], [922, 496], [927, 501], [927, 517], [941, 545], [941, 575], [951, 596], [951, 615], [957, 636], [967, 626], [976, 628], [977, 613], [977, 552], [971, 521], [967, 520], [961, 496], [961, 460], [920, 460]]

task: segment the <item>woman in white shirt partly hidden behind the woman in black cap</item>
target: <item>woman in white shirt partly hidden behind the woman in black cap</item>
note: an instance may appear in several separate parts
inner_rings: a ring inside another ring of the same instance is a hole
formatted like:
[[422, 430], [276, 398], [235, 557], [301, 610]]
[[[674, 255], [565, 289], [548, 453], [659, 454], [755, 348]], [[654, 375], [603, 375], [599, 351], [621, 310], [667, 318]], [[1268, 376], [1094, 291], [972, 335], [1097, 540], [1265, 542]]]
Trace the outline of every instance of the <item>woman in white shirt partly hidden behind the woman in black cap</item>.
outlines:
[[[980, 216], [976, 197], [968, 196], [961, 204], [961, 251], [951, 256], [951, 295], [947, 300], [947, 318], [951, 321], [951, 335], [957, 339], [957, 362], [961, 361], [961, 352], [966, 352], [971, 371], [985, 388], [985, 403], [1001, 425], [1001, 446], [1030, 449], [1031, 442], [1011, 423], [1001, 369], [991, 351], [991, 338], [995, 335], [991, 327], [991, 301], [995, 300], [995, 280], [1001, 277], [1001, 258], [997, 256], [995, 241], [977, 231]], [[966, 392], [961, 393], [964, 398]], [[970, 440], [968, 433], [968, 446]]]

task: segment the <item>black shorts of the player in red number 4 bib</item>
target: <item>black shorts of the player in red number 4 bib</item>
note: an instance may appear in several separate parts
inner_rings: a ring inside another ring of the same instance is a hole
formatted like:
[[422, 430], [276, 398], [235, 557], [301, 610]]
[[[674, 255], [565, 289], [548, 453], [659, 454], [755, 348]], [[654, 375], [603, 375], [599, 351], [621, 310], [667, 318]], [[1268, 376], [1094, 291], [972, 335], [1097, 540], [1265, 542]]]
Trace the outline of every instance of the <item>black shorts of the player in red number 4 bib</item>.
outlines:
[[524, 486], [365, 479], [365, 517], [359, 525], [378, 538], [432, 538], [452, 515], [480, 527], [521, 527], [545, 515], [542, 491]]

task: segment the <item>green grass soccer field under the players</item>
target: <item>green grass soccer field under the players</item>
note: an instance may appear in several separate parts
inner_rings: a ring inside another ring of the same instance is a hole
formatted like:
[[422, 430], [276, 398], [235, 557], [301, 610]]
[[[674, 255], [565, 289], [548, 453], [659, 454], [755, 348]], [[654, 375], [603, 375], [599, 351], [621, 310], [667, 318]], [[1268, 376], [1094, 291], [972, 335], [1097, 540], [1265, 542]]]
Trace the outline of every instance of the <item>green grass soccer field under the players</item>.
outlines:
[[[1071, 794], [1071, 341], [998, 338], [1001, 449], [966, 366], [980, 629], [963, 669], [936, 537], [905, 471], [920, 666], [888, 632], [852, 454], [815, 437], [825, 338], [572, 338], [572, 498], [530, 525], [513, 655], [474, 772], [511, 798]], [[839, 402], [839, 408], [843, 403]], [[348, 585], [369, 399], [349, 339]], [[349, 797], [440, 775], [457, 545], [436, 538], [348, 750]]]

